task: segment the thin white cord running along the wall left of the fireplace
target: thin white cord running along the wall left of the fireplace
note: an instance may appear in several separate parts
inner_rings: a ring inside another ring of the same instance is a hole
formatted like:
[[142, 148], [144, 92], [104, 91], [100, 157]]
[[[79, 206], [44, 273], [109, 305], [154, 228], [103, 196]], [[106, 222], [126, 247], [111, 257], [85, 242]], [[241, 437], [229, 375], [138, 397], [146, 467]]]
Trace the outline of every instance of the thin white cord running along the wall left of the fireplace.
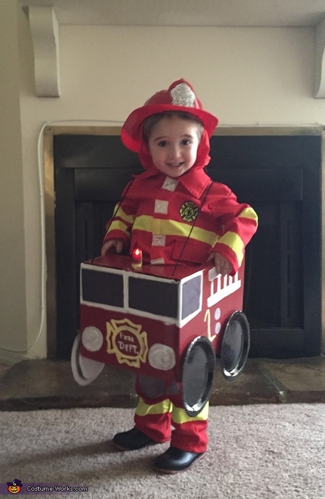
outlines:
[[11, 352], [11, 353], [26, 353], [30, 348], [32, 348], [37, 341], [40, 338], [40, 335], [42, 333], [42, 329], [44, 326], [44, 320], [45, 320], [45, 302], [46, 302], [46, 248], [45, 248], [45, 203], [44, 203], [44, 185], [42, 181], [42, 167], [43, 167], [43, 148], [42, 148], [42, 136], [43, 136], [43, 131], [45, 127], [48, 126], [53, 126], [53, 125], [68, 125], [68, 123], [82, 123], [84, 126], [86, 124], [91, 123], [94, 125], [94, 123], [100, 123], [103, 124], [105, 123], [106, 126], [114, 126], [114, 125], [122, 125], [122, 121], [115, 121], [115, 120], [63, 120], [63, 121], [51, 121], [51, 122], [46, 122], [40, 129], [39, 135], [38, 135], [38, 140], [37, 140], [37, 166], [38, 166], [38, 184], [39, 184], [39, 200], [40, 200], [40, 244], [41, 244], [41, 275], [40, 275], [40, 286], [41, 286], [41, 309], [40, 309], [40, 325], [39, 325], [39, 331], [38, 334], [33, 341], [33, 343], [29, 346], [27, 346], [26, 349], [24, 350], [13, 350], [10, 348], [3, 348], [0, 347], [0, 350], [5, 351], [5, 352]]

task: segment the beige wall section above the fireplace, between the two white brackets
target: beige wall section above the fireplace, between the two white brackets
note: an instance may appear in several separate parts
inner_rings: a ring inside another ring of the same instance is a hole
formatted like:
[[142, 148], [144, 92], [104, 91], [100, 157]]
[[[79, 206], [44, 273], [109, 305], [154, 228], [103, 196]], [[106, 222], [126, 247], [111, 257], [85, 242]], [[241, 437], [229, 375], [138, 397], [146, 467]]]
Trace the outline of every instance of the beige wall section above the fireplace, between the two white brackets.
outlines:
[[61, 100], [71, 118], [121, 120], [184, 77], [221, 124], [323, 123], [313, 45], [311, 28], [63, 26]]

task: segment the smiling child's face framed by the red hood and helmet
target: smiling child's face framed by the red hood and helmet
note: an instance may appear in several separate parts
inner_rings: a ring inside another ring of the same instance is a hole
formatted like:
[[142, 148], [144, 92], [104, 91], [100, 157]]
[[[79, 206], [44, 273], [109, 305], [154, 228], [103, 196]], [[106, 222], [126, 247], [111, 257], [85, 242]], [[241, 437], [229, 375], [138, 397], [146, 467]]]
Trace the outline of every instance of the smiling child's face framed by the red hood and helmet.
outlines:
[[180, 177], [195, 163], [200, 139], [194, 122], [177, 116], [162, 118], [148, 140], [155, 167], [168, 177]]

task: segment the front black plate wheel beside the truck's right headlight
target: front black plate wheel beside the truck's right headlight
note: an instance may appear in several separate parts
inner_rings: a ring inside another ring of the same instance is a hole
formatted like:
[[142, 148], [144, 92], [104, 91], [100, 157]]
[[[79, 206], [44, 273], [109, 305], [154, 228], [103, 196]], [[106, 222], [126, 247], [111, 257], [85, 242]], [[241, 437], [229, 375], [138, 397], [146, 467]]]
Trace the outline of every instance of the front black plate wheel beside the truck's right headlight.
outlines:
[[187, 347], [182, 368], [182, 398], [186, 413], [194, 417], [208, 401], [215, 369], [215, 352], [205, 336]]

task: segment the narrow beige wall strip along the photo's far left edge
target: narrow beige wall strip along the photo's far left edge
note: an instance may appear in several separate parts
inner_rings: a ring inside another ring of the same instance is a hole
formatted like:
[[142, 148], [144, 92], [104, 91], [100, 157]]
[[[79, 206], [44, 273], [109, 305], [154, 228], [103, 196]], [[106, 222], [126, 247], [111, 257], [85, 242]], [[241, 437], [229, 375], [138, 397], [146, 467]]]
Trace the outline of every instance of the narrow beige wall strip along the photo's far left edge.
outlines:
[[0, 3], [0, 20], [0, 344], [21, 350], [27, 341], [26, 267], [18, 22], [14, 3]]

